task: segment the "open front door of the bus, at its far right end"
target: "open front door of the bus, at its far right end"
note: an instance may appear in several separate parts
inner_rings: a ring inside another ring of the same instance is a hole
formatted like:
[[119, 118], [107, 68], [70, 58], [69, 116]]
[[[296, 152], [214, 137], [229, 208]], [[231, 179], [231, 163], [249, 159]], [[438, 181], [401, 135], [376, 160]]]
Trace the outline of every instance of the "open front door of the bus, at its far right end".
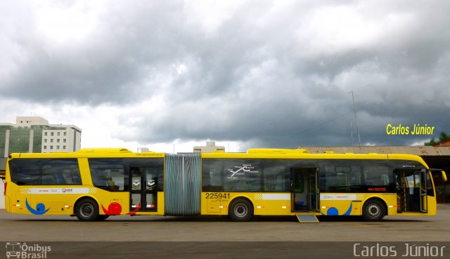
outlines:
[[428, 180], [425, 169], [397, 169], [394, 171], [397, 192], [397, 213], [428, 211]]

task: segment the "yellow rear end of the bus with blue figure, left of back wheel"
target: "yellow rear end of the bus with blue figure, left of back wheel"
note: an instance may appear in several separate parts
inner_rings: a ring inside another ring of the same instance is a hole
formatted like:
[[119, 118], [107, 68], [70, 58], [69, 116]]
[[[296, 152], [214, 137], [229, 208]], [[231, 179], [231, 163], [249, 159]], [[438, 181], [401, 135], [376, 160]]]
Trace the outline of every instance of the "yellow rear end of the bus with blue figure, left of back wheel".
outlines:
[[[72, 215], [68, 199], [82, 186], [77, 158], [11, 154], [6, 161], [5, 208], [9, 213]], [[44, 156], [44, 158], [42, 158]]]

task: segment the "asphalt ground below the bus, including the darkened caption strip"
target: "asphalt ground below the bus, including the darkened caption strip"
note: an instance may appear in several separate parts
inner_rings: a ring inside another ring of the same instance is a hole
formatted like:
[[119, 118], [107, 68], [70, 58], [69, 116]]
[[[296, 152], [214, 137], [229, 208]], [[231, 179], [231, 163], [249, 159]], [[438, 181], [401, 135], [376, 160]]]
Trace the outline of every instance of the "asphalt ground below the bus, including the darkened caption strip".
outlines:
[[[387, 216], [375, 223], [357, 217], [319, 219], [302, 224], [294, 217], [235, 223], [229, 218], [121, 215], [80, 222], [69, 216], [0, 210], [0, 258], [25, 244], [49, 246], [51, 251], [27, 251], [27, 257], [19, 258], [385, 258], [377, 256], [379, 246], [385, 247], [388, 258], [435, 258], [402, 256], [406, 244], [435, 246], [444, 249], [438, 258], [450, 258], [450, 204], [439, 204], [433, 217]], [[11, 248], [12, 242], [20, 246]], [[373, 254], [362, 255], [366, 246]]]

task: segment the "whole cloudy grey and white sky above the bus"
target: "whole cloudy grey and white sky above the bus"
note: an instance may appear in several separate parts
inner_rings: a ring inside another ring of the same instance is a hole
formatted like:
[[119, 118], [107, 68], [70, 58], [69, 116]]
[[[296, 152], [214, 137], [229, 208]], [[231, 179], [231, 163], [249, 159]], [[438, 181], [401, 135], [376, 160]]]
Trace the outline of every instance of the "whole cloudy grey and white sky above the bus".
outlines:
[[[418, 145], [450, 133], [450, 1], [0, 1], [0, 122], [82, 147]], [[352, 134], [353, 133], [353, 134]]]

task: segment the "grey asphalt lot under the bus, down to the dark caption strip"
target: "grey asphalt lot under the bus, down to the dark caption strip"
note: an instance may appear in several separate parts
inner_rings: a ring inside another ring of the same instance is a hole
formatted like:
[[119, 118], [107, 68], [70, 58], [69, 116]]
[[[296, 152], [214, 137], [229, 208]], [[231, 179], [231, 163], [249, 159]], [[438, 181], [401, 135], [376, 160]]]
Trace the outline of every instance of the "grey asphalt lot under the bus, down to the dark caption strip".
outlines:
[[59, 215], [19, 215], [0, 210], [0, 241], [449, 241], [450, 204], [432, 217], [387, 216], [368, 223], [360, 218], [320, 218], [298, 223], [290, 218], [113, 216], [80, 222]]

